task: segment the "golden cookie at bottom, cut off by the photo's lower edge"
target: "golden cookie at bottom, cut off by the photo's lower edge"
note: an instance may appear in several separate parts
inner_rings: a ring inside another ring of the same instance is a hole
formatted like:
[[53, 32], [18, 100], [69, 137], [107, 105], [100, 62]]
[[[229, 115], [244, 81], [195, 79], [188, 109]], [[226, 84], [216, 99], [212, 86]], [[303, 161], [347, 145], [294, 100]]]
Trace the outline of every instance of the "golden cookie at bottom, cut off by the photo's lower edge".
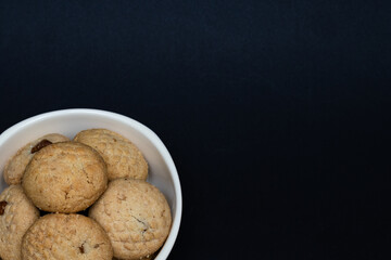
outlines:
[[108, 234], [81, 214], [51, 213], [37, 220], [22, 242], [24, 260], [111, 260]]

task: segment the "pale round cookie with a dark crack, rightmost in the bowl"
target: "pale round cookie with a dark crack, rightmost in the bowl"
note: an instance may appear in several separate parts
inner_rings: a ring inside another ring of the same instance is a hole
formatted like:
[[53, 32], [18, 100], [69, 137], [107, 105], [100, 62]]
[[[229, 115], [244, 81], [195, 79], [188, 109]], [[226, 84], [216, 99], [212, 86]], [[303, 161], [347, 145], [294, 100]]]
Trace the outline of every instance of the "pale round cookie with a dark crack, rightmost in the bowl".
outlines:
[[108, 232], [118, 259], [140, 259], [155, 252], [172, 223], [164, 195], [152, 184], [134, 179], [110, 182], [89, 217]]

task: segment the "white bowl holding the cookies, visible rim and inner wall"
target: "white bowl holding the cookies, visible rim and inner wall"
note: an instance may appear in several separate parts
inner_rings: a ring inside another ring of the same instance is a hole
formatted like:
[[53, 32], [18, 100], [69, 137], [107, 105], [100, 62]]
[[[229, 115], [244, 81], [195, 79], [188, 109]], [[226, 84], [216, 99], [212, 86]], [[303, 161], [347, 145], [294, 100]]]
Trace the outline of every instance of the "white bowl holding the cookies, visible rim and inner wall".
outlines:
[[23, 120], [0, 135], [0, 192], [7, 187], [2, 178], [4, 165], [16, 151], [47, 133], [62, 133], [72, 139], [80, 130], [106, 128], [134, 142], [149, 165], [148, 181], [166, 196], [173, 213], [173, 226], [155, 260], [166, 259], [178, 235], [182, 198], [174, 161], [157, 135], [149, 128], [128, 117], [97, 109], [55, 110]]

